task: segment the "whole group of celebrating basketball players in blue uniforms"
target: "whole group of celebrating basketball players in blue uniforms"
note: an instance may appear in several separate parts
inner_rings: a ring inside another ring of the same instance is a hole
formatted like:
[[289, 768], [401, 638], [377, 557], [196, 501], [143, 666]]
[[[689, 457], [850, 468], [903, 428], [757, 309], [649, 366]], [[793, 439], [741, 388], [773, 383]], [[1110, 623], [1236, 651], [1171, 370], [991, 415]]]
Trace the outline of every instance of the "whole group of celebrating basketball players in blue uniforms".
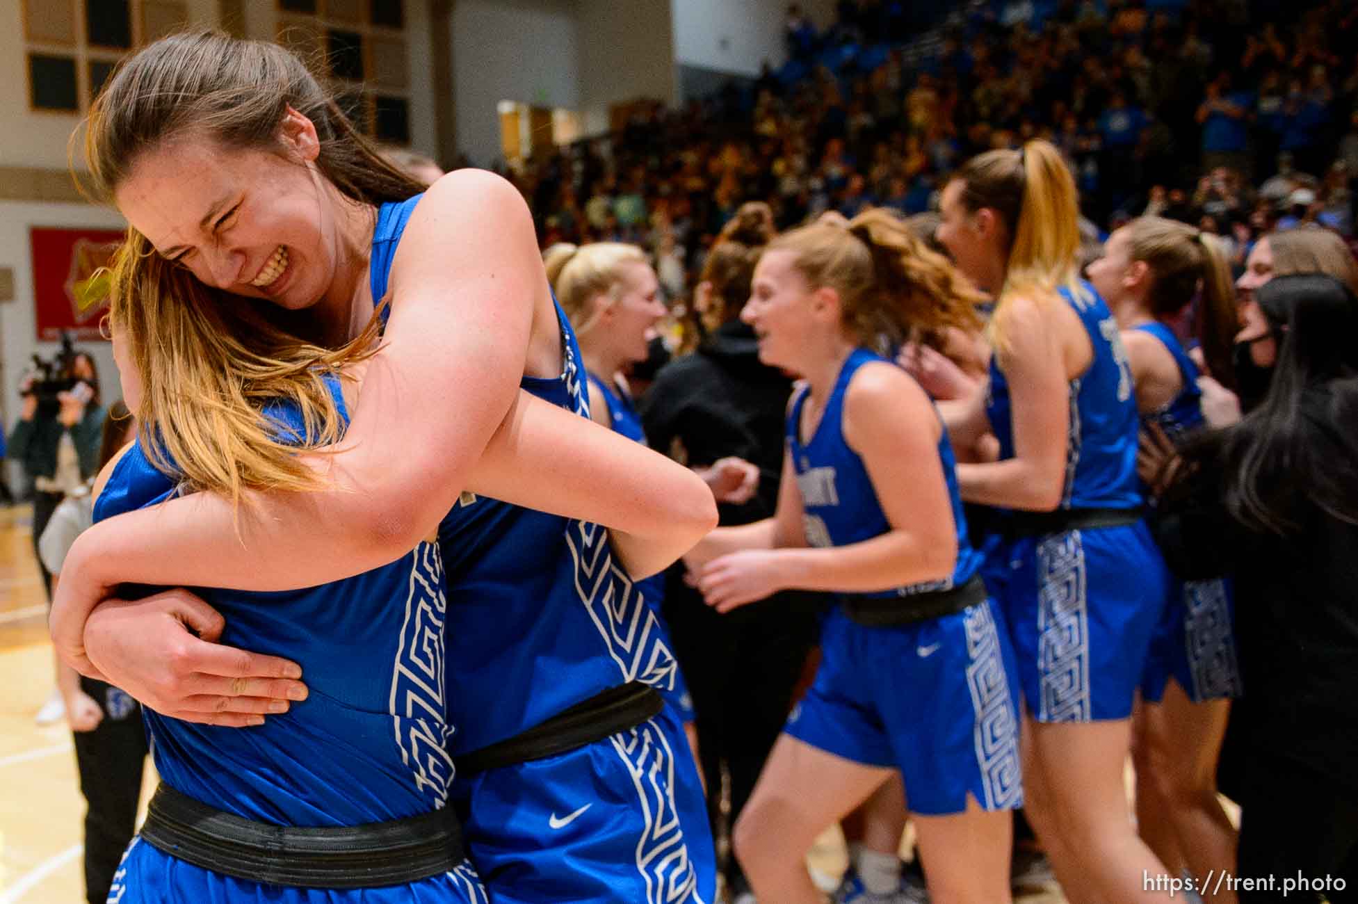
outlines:
[[940, 904], [1010, 900], [1017, 808], [1071, 901], [1234, 867], [1234, 589], [1153, 531], [1206, 470], [1200, 372], [1234, 385], [1210, 236], [1134, 220], [1082, 276], [1039, 140], [956, 171], [936, 235], [771, 238], [737, 314], [799, 380], [777, 504], [717, 527], [758, 468], [650, 451], [617, 380], [665, 314], [642, 252], [545, 269], [508, 182], [413, 181], [288, 50], [215, 33], [124, 62], [86, 149], [129, 223], [137, 428], [52, 631], [145, 704], [160, 775], [110, 900], [716, 901], [720, 789], [646, 580], [679, 561], [721, 614], [832, 601], [732, 831], [759, 901], [824, 900], [808, 850], [891, 783], [877, 852], [909, 812]]

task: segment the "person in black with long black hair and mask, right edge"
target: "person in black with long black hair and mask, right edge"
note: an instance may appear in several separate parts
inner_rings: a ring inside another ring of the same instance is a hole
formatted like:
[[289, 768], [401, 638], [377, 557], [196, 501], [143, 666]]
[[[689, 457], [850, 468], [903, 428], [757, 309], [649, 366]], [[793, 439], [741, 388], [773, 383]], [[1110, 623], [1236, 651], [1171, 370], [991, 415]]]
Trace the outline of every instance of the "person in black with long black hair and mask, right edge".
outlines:
[[[1236, 582], [1251, 706], [1240, 900], [1354, 900], [1358, 889], [1358, 297], [1321, 274], [1256, 290], [1286, 311], [1263, 403], [1183, 452], [1157, 535], [1183, 578]], [[1328, 882], [1327, 882], [1328, 880]], [[1339, 880], [1344, 886], [1339, 886]]]

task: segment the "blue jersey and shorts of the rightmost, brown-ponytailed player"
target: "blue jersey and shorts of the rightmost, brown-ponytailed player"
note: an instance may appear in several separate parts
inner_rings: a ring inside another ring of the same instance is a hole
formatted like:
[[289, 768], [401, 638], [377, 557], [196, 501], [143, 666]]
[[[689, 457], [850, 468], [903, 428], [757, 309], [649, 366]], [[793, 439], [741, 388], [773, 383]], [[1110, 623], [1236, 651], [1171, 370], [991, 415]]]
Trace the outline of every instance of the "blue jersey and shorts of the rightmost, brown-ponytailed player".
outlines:
[[[1175, 442], [1202, 429], [1202, 392], [1198, 365], [1184, 352], [1179, 337], [1164, 323], [1135, 327], [1156, 337], [1179, 364], [1183, 391], [1158, 411], [1142, 415], [1157, 423]], [[1141, 694], [1160, 702], [1173, 677], [1194, 703], [1240, 696], [1244, 684], [1236, 658], [1234, 590], [1228, 578], [1173, 580], [1164, 616], [1156, 627]]]

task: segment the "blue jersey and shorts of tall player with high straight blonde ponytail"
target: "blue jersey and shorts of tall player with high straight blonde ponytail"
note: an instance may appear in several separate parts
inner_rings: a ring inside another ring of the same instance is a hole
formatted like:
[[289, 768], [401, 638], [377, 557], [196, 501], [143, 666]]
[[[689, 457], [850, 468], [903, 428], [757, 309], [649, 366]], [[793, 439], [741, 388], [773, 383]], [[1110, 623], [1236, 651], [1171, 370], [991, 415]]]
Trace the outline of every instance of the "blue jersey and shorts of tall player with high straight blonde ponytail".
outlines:
[[[1058, 510], [1142, 505], [1137, 403], [1118, 322], [1088, 282], [1061, 297], [1080, 315], [1093, 361], [1070, 381], [1066, 479]], [[1009, 383], [990, 361], [986, 411], [999, 457], [1014, 455]], [[1012, 517], [998, 513], [999, 521]], [[995, 535], [986, 581], [1013, 637], [1028, 711], [1040, 722], [1131, 715], [1169, 576], [1146, 524]]]

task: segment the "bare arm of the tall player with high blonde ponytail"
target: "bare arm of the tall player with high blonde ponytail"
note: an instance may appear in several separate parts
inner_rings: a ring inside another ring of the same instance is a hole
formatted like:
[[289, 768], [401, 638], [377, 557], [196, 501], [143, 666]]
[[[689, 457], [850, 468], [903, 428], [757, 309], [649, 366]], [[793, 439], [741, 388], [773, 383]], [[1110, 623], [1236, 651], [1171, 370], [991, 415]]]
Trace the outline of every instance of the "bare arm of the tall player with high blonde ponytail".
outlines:
[[1069, 429], [1069, 365], [1061, 328], [1066, 324], [1058, 320], [1057, 308], [1062, 303], [1013, 299], [1009, 304], [1010, 347], [999, 362], [1013, 403], [1014, 456], [959, 464], [957, 485], [968, 502], [1051, 512], [1061, 504]]

